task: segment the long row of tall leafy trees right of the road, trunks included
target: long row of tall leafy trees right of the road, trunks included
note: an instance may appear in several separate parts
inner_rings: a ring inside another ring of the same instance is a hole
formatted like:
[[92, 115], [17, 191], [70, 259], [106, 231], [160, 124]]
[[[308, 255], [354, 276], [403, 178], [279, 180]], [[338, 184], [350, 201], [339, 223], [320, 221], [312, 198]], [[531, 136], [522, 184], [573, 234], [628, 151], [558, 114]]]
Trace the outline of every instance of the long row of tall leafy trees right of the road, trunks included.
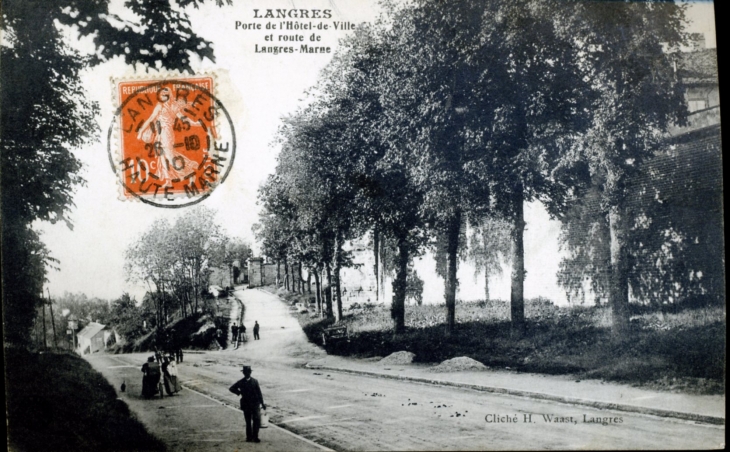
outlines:
[[[281, 126], [276, 173], [260, 190], [264, 252], [323, 271], [339, 318], [343, 243], [366, 233], [391, 243], [400, 332], [409, 262], [431, 246], [443, 255], [448, 334], [464, 224], [492, 239], [508, 231], [520, 332], [525, 202], [566, 219], [592, 194], [606, 218], [609, 302], [622, 336], [629, 182], [686, 115], [673, 68], [683, 7], [414, 0], [384, 8], [341, 42], [309, 103]], [[475, 241], [471, 252], [500, 249], [495, 242]]]

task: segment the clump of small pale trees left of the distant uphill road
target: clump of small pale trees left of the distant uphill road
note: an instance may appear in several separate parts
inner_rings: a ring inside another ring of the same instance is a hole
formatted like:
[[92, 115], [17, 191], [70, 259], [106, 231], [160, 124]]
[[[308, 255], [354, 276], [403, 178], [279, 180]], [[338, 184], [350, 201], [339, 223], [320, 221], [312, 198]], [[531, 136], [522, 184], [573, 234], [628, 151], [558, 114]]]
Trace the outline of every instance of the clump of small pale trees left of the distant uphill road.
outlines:
[[130, 281], [148, 285], [154, 325], [162, 326], [174, 312], [187, 317], [204, 310], [214, 269], [243, 269], [251, 255], [248, 243], [223, 232], [214, 210], [196, 206], [174, 223], [153, 223], [127, 249], [125, 269]]

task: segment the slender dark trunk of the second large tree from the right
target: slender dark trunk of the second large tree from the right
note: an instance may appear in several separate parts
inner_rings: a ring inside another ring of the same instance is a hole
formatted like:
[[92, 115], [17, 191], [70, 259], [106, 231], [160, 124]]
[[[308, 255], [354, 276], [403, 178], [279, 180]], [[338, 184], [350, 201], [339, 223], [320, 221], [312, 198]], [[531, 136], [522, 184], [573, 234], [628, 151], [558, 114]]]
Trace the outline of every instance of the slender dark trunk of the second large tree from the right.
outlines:
[[522, 334], [525, 329], [525, 211], [522, 183], [517, 184], [515, 188], [510, 311], [512, 315], [512, 331], [517, 334]]

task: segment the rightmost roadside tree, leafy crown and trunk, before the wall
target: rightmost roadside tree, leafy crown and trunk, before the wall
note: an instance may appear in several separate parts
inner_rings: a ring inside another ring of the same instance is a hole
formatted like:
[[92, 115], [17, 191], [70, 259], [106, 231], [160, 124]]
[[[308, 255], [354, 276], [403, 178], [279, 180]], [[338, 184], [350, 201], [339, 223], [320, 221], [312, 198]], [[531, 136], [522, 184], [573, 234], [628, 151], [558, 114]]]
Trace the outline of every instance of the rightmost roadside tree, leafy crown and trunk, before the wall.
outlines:
[[629, 181], [640, 173], [669, 126], [686, 115], [674, 62], [684, 42], [684, 7], [674, 2], [594, 2], [577, 6], [577, 35], [584, 43], [597, 93], [582, 152], [609, 230], [609, 303], [613, 337], [629, 328]]

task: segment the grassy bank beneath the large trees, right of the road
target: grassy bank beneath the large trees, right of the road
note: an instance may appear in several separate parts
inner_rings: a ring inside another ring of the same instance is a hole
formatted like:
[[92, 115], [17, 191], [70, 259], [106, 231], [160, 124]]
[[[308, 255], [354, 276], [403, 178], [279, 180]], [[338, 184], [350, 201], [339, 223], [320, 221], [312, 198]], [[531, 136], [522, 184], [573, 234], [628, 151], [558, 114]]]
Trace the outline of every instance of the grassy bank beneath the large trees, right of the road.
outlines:
[[[296, 297], [286, 295], [288, 302]], [[457, 331], [444, 336], [443, 305], [406, 307], [407, 331], [393, 336], [387, 306], [346, 311], [351, 341], [329, 352], [371, 357], [408, 350], [416, 361], [438, 363], [469, 356], [488, 366], [524, 372], [571, 374], [644, 385], [655, 389], [723, 394], [725, 390], [725, 308], [705, 307], [673, 314], [645, 312], [632, 318], [632, 332], [611, 341], [606, 308], [558, 308], [528, 300], [526, 334], [510, 334], [506, 302], [458, 303]], [[312, 342], [331, 320], [298, 314]]]

